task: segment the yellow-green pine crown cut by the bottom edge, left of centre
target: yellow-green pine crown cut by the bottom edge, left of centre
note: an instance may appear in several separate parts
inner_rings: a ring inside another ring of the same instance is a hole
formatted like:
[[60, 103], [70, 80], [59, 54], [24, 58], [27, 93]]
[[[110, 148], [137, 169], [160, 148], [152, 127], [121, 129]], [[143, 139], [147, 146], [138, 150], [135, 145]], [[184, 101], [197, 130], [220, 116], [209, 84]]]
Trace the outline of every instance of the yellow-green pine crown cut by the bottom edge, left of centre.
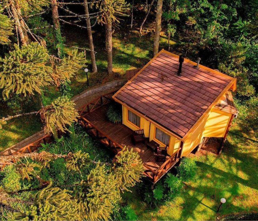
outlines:
[[66, 189], [51, 184], [36, 194], [34, 204], [16, 219], [25, 220], [79, 220], [79, 206]]

